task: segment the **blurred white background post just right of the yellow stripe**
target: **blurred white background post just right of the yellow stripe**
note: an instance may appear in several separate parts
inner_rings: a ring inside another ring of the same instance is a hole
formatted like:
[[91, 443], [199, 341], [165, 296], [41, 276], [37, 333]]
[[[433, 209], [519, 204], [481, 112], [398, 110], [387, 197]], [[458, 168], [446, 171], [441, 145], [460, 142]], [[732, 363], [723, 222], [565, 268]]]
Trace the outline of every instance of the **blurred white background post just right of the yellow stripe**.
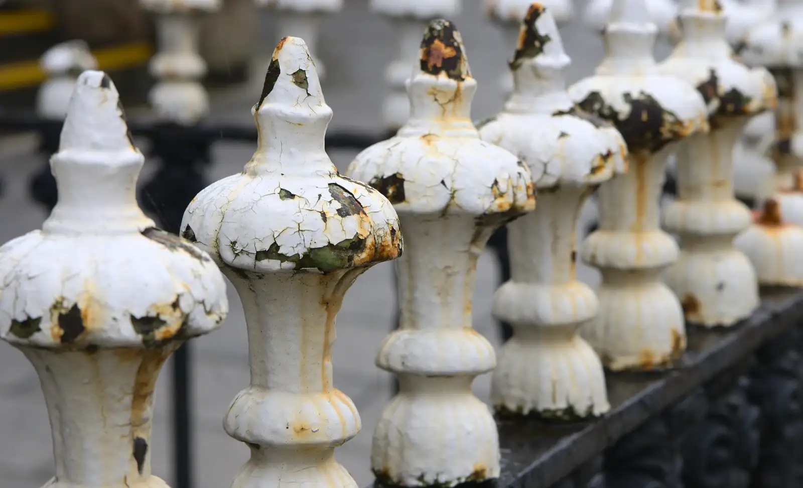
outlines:
[[196, 124], [209, 112], [209, 96], [200, 83], [206, 75], [206, 62], [198, 54], [198, 14], [218, 10], [220, 0], [140, 2], [157, 14], [158, 51], [149, 64], [157, 83], [149, 102], [162, 119]]

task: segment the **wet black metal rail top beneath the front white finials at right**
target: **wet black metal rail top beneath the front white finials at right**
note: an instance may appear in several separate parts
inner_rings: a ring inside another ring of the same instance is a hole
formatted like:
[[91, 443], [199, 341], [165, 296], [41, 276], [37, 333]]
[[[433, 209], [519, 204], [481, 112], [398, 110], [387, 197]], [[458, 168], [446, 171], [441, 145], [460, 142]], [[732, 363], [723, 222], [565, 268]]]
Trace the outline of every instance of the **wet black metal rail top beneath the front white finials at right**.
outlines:
[[554, 486], [651, 417], [683, 401], [716, 376], [739, 368], [760, 346], [803, 321], [803, 291], [774, 288], [763, 291], [761, 299], [760, 308], [737, 327], [690, 327], [688, 349], [677, 369], [662, 373], [607, 372], [613, 408], [597, 421], [549, 425], [499, 420], [499, 486]]

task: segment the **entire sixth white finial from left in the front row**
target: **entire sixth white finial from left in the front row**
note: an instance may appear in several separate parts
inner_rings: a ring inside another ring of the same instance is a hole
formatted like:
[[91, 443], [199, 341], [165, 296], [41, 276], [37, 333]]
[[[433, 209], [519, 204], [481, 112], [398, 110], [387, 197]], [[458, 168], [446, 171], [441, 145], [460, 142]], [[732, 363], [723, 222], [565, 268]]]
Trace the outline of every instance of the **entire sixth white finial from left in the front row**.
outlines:
[[679, 235], [681, 251], [664, 281], [680, 298], [687, 323], [731, 326], [759, 306], [756, 270], [733, 246], [751, 224], [750, 209], [733, 197], [733, 148], [750, 116], [775, 108], [776, 88], [764, 68], [734, 59], [727, 17], [715, 0], [694, 0], [678, 18], [683, 39], [661, 70], [697, 87], [708, 101], [711, 132], [680, 144], [678, 198], [663, 223]]

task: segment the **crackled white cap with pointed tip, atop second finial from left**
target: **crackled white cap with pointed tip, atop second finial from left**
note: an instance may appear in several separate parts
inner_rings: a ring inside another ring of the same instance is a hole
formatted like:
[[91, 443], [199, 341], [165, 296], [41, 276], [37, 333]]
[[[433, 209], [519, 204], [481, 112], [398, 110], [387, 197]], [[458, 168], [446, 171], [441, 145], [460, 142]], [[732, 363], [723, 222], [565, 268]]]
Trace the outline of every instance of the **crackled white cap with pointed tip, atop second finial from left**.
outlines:
[[390, 202], [340, 177], [324, 150], [332, 109], [302, 39], [279, 41], [252, 113], [254, 156], [242, 173], [198, 193], [183, 236], [227, 272], [330, 273], [402, 253]]

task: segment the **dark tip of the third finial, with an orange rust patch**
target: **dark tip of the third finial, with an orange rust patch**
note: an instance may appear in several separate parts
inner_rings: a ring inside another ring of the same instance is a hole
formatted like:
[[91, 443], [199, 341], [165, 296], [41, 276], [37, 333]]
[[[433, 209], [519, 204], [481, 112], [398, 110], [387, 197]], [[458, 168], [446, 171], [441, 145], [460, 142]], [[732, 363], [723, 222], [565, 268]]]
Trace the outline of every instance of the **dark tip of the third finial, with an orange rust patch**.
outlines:
[[455, 81], [471, 78], [463, 49], [463, 38], [453, 22], [436, 18], [426, 27], [421, 41], [421, 71], [433, 76], [441, 73]]

